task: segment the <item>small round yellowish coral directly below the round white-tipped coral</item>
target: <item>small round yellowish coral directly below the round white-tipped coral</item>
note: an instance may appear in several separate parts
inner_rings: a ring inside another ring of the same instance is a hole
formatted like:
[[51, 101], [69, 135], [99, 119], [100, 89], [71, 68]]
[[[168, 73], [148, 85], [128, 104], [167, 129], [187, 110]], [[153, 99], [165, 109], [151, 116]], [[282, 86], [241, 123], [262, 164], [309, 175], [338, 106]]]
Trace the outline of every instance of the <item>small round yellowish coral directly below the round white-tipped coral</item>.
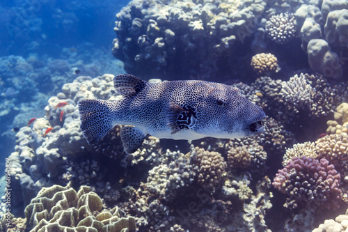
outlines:
[[251, 58], [251, 68], [258, 75], [271, 75], [278, 72], [278, 60], [274, 54], [259, 53]]

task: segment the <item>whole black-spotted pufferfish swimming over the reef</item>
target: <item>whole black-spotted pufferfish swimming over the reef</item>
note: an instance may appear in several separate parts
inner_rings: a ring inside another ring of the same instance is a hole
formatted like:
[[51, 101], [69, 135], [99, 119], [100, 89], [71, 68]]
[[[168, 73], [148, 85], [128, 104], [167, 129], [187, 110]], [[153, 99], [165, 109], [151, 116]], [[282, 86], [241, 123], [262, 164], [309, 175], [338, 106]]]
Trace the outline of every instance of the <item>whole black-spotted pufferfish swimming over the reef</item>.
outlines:
[[263, 131], [264, 111], [246, 100], [238, 88], [198, 80], [148, 83], [134, 75], [113, 78], [118, 101], [80, 100], [81, 130], [95, 144], [115, 125], [134, 153], [146, 134], [159, 139], [251, 137]]

